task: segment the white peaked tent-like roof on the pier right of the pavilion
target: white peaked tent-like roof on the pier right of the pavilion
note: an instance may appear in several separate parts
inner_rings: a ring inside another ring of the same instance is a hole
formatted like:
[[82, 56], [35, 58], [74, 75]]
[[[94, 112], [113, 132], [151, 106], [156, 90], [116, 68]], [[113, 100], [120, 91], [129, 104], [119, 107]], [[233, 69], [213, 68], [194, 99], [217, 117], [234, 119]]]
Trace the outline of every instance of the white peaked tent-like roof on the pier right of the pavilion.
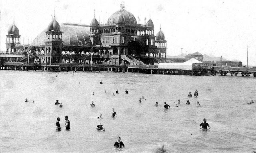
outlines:
[[192, 70], [193, 63], [202, 63], [194, 58], [184, 62], [184, 63], [159, 63], [158, 69], [183, 69]]

